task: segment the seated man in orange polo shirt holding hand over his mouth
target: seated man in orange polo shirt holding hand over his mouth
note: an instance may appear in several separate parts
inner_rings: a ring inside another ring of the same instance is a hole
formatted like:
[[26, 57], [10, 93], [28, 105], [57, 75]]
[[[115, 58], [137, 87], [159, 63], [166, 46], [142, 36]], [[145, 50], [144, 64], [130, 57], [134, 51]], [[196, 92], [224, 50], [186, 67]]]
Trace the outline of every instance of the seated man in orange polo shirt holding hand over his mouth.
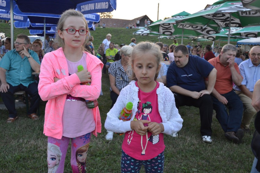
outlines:
[[236, 54], [236, 46], [227, 44], [223, 46], [218, 57], [212, 58], [208, 62], [218, 70], [211, 94], [216, 118], [224, 130], [226, 138], [234, 143], [241, 143], [244, 136], [243, 130], [240, 129], [243, 103], [232, 88], [233, 83], [240, 86], [243, 80], [238, 65], [234, 62]]

